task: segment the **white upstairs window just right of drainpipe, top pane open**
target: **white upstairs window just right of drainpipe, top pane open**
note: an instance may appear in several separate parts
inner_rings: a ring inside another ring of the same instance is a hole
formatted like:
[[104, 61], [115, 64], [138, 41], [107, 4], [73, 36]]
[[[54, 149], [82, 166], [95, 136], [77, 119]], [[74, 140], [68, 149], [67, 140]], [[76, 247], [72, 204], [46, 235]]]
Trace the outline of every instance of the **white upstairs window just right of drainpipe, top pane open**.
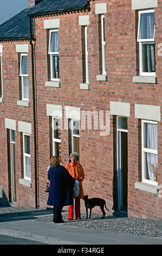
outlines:
[[50, 54], [50, 78], [51, 81], [59, 81], [59, 38], [58, 29], [50, 30], [49, 50]]

